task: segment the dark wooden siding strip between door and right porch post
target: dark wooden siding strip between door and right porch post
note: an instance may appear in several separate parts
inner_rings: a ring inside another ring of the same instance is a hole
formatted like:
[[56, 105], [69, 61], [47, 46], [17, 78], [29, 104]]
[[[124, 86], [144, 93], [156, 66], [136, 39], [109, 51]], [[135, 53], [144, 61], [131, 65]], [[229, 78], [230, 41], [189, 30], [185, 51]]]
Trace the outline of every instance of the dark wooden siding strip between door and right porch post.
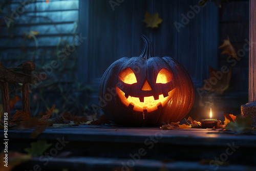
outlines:
[[[229, 91], [248, 92], [249, 72], [249, 1], [222, 2], [220, 8], [219, 46], [227, 36], [240, 60], [229, 58], [219, 50], [218, 68], [232, 66]], [[237, 104], [239, 106], [241, 104]]]

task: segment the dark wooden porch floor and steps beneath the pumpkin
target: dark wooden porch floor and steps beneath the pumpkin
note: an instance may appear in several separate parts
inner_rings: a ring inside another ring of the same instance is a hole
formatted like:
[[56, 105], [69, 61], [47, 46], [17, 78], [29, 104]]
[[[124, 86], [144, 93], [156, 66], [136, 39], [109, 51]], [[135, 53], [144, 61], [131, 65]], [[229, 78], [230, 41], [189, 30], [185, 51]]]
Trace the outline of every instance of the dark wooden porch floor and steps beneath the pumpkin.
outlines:
[[[13, 130], [9, 135], [9, 151], [22, 151], [37, 141], [31, 138], [32, 131]], [[2, 138], [3, 130], [0, 133]], [[217, 158], [229, 163], [219, 164], [219, 170], [246, 170], [248, 166], [254, 169], [255, 136], [215, 133], [207, 129], [166, 131], [159, 127], [110, 125], [48, 127], [37, 138], [52, 143], [46, 151], [51, 158], [49, 163], [45, 164], [42, 159], [47, 156], [42, 155], [16, 169], [33, 169], [38, 164], [46, 170], [115, 170], [122, 163], [134, 162], [134, 170], [160, 170], [163, 165], [170, 170], [214, 170], [217, 167], [211, 160]], [[141, 148], [144, 155], [139, 155]]]

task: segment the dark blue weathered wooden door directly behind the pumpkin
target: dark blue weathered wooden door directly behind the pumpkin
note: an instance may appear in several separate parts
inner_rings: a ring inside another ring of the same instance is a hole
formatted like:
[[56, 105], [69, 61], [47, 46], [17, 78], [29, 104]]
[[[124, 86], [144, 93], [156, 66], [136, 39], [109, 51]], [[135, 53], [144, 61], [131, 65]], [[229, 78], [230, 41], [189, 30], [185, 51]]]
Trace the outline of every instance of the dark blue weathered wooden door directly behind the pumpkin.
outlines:
[[[151, 39], [155, 56], [175, 58], [186, 68], [195, 86], [202, 86], [208, 77], [208, 66], [217, 66], [218, 8], [215, 3], [207, 3], [195, 13], [191, 8], [195, 6], [197, 0], [123, 1], [113, 11], [109, 1], [81, 1], [81, 32], [88, 39], [87, 48], [80, 54], [85, 59], [79, 60], [86, 63], [79, 63], [79, 77], [95, 86], [93, 98], [98, 98], [99, 80], [112, 62], [140, 55], [142, 34]], [[159, 13], [163, 19], [159, 28], [146, 28], [142, 22], [146, 11]], [[90, 17], [85, 16], [87, 13]], [[179, 32], [175, 22], [182, 25]]]

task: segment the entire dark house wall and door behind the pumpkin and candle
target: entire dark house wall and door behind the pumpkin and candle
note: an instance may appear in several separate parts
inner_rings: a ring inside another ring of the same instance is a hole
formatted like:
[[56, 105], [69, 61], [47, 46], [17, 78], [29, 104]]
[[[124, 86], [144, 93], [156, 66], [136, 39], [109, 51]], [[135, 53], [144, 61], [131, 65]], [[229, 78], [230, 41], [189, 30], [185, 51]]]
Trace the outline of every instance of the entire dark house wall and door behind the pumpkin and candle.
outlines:
[[[31, 90], [32, 115], [49, 110], [53, 104], [56, 104], [56, 113], [93, 114], [91, 105], [98, 105], [102, 74], [121, 57], [139, 56], [143, 48], [142, 34], [153, 42], [155, 56], [175, 58], [190, 74], [196, 98], [188, 116], [196, 120], [208, 118], [210, 107], [214, 117], [221, 120], [224, 120], [223, 113], [240, 114], [240, 106], [248, 102], [248, 51], [233, 66], [229, 88], [222, 95], [212, 92], [201, 98], [197, 88], [209, 78], [209, 66], [216, 70], [230, 66], [228, 55], [221, 54], [223, 50], [218, 48], [227, 36], [236, 51], [246, 44], [249, 1], [207, 2], [179, 32], [174, 23], [181, 23], [182, 14], [186, 16], [191, 11], [189, 6], [198, 5], [198, 0], [119, 2], [113, 10], [108, 0], [52, 0], [49, 3], [31, 0], [10, 27], [3, 18], [10, 17], [20, 2], [0, 2], [3, 65], [15, 67], [32, 60], [37, 67], [35, 72], [46, 72], [49, 77]], [[142, 22], [146, 11], [159, 13], [163, 22], [158, 28], [147, 28]], [[62, 48], [72, 46], [80, 35], [87, 38], [62, 61], [57, 54], [63, 55]], [[52, 61], [57, 61], [58, 67], [51, 70]], [[10, 89], [11, 97], [15, 94], [22, 97], [20, 85], [12, 85]], [[12, 113], [21, 108], [19, 101]]]

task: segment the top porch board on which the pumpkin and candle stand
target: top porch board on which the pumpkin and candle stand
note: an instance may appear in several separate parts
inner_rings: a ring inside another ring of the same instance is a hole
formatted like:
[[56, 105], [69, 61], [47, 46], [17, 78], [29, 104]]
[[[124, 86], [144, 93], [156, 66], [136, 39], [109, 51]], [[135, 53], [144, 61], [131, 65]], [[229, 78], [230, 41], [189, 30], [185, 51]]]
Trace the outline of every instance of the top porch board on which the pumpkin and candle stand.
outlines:
[[[30, 130], [13, 130], [9, 135], [11, 139], [31, 139]], [[3, 130], [0, 130], [3, 132]], [[66, 140], [72, 141], [90, 141], [90, 142], [126, 142], [126, 143], [144, 143], [145, 139], [159, 135], [159, 143], [170, 143], [179, 145], [206, 145], [206, 146], [226, 146], [232, 143], [245, 146], [255, 147], [256, 136], [251, 135], [232, 135], [232, 134], [215, 134], [216, 131], [210, 129], [186, 129], [186, 130], [160, 130], [159, 127], [148, 128], [128, 128], [113, 126], [68, 126], [68, 127], [48, 127], [39, 139], [55, 140], [58, 137], [65, 137]], [[0, 137], [3, 137], [1, 134]]]

